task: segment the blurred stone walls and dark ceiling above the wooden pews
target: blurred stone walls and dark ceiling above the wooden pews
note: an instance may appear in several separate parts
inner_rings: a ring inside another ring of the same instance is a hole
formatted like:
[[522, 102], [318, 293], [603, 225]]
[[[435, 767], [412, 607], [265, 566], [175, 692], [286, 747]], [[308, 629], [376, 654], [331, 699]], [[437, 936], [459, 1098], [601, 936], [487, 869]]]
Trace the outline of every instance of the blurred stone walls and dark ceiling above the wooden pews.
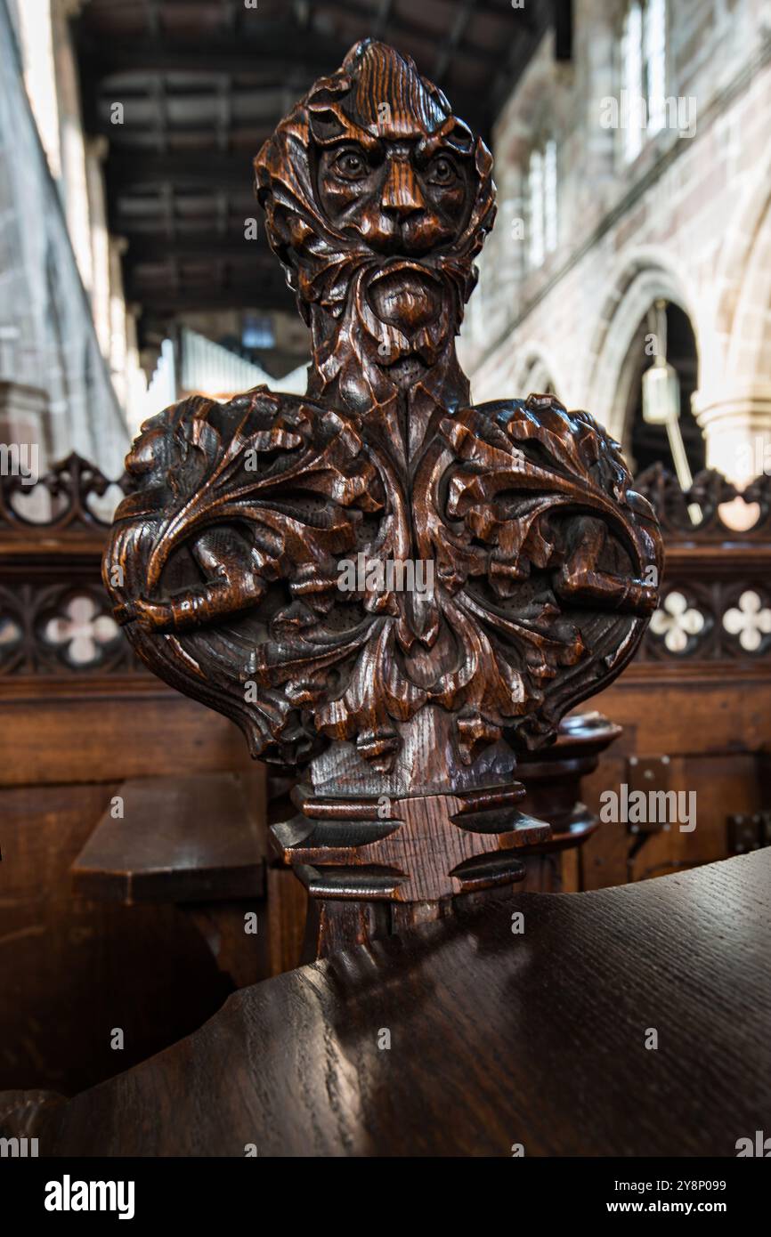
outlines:
[[116, 476], [142, 418], [187, 391], [303, 390], [307, 332], [251, 160], [374, 35], [495, 153], [499, 221], [463, 333], [475, 398], [553, 391], [636, 470], [673, 465], [663, 423], [644, 417], [642, 374], [663, 351], [691, 473], [759, 471], [762, 0], [2, 0], [0, 14], [0, 437], [38, 443], [42, 464], [74, 448]]

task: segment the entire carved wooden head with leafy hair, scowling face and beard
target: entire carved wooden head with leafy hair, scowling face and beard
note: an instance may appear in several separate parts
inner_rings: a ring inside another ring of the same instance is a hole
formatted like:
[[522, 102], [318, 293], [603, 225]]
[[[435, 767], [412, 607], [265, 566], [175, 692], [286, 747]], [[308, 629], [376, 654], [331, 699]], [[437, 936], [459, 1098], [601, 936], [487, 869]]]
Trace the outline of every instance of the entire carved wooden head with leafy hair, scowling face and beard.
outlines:
[[[408, 354], [413, 333], [431, 323], [420, 345], [426, 354], [452, 338], [493, 226], [491, 167], [441, 90], [392, 48], [366, 40], [319, 79], [265, 143], [255, 171], [269, 240], [303, 315], [317, 306], [327, 319], [316, 323], [321, 336], [329, 338], [353, 297], [376, 360]], [[368, 348], [360, 344], [360, 361]]]

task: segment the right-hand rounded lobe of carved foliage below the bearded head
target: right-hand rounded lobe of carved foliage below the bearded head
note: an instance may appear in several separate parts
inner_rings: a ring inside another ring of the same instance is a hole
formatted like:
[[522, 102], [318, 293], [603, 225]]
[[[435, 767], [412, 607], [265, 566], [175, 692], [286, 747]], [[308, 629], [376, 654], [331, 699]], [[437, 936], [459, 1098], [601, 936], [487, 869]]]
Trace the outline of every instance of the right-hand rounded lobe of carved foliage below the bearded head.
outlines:
[[[441, 421], [413, 512], [418, 553], [437, 564], [436, 605], [464, 649], [462, 669], [429, 693], [464, 710], [459, 734], [467, 713], [484, 742], [527, 714], [519, 732], [537, 738], [568, 695], [578, 703], [598, 690], [619, 668], [593, 647], [605, 648], [608, 609], [630, 616], [611, 621], [630, 656], [656, 604], [645, 575], [661, 567], [652, 512], [630, 486], [604, 430], [551, 397]], [[549, 682], [562, 667], [577, 672], [557, 694]]]

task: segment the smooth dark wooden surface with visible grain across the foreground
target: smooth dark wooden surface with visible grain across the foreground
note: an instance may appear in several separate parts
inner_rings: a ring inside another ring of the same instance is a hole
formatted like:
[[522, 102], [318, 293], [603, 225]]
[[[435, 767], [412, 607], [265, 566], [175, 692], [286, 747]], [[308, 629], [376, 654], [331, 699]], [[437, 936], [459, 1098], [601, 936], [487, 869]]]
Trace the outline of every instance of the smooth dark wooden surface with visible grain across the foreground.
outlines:
[[767, 851], [514, 893], [245, 988], [35, 1132], [71, 1155], [733, 1157], [771, 1128], [770, 964]]

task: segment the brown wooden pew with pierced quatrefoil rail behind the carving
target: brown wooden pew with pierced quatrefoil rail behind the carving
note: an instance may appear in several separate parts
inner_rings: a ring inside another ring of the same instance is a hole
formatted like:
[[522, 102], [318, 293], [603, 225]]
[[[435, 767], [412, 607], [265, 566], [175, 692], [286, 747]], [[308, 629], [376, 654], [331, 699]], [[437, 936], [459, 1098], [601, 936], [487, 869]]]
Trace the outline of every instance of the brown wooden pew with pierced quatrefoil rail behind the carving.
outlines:
[[[642, 479], [667, 543], [665, 604], [671, 593], [681, 593], [704, 616], [704, 627], [682, 651], [667, 647], [666, 632], [650, 632], [635, 662], [597, 698], [624, 732], [594, 773], [583, 771], [580, 799], [588, 818], [599, 816], [608, 788], [652, 773], [640, 784], [697, 790], [697, 829], [686, 834], [657, 828], [640, 835], [622, 824], [600, 824], [587, 830], [583, 875], [578, 850], [563, 852], [559, 868], [553, 854], [540, 854], [527, 857], [527, 888], [569, 891], [580, 888], [582, 880], [588, 888], [601, 888], [767, 844], [771, 642], [761, 633], [759, 647], [747, 651], [740, 636], [723, 627], [724, 615], [738, 609], [747, 590], [762, 605], [769, 601], [767, 480], [745, 492], [746, 501], [757, 505], [757, 520], [754, 528], [736, 533], [720, 521], [717, 500], [724, 490], [714, 476], [697, 479], [704, 515], [699, 528], [684, 523], [684, 500], [671, 480], [661, 473], [652, 481]], [[104, 635], [108, 614], [99, 579], [106, 513], [95, 515], [92, 503], [106, 487], [92, 465], [71, 458], [41, 480], [52, 510], [27, 522], [16, 513], [9, 479], [0, 486], [0, 936], [14, 943], [0, 961], [4, 983], [20, 995], [19, 1007], [6, 1004], [0, 1014], [0, 1035], [9, 1045], [0, 1060], [6, 1085], [61, 1085], [57, 1061], [63, 1059], [72, 1063], [63, 1075], [67, 1082], [87, 1085], [178, 1038], [217, 1008], [228, 988], [192, 931], [193, 920], [234, 982], [259, 977], [251, 943], [243, 948], [245, 909], [238, 899], [212, 899], [205, 908], [199, 902], [194, 914], [189, 907], [182, 914], [178, 903], [155, 899], [134, 905], [126, 918], [111, 896], [98, 904], [94, 883], [88, 898], [82, 888], [72, 897], [68, 870], [126, 779], [173, 774], [183, 783], [189, 776], [238, 776], [257, 830], [264, 830], [264, 767], [249, 761], [236, 729], [150, 675], [119, 632], [94, 638], [94, 622]], [[90, 597], [94, 605], [90, 621], [79, 623], [92, 630], [90, 661], [71, 656], [78, 623], [71, 616], [66, 626], [67, 606], [77, 597]], [[173, 741], [158, 742], [161, 730]], [[551, 818], [564, 804], [538, 798], [537, 769], [538, 760], [522, 760], [522, 781], [535, 792], [526, 807]], [[541, 785], [549, 787], [548, 777], [541, 777]], [[205, 837], [215, 829], [210, 813], [199, 820], [202, 831], [192, 823], [189, 841], [203, 855]], [[264, 882], [261, 922], [269, 930], [260, 940], [266, 949], [260, 965], [266, 966], [261, 975], [270, 975], [298, 961], [306, 898], [291, 873], [270, 863]], [[104, 893], [101, 888], [100, 899]], [[131, 1049], [118, 1060], [106, 1035], [100, 1044], [83, 1039], [77, 1011], [95, 992], [106, 1023], [115, 1007], [114, 956], [124, 959], [137, 991], [146, 991], [151, 980], [142, 977], [144, 960], [161, 935], [168, 941], [163, 957], [170, 982], [188, 972], [196, 982], [186, 982], [186, 996], [173, 1011], [157, 999], [134, 1002], [139, 1021]], [[51, 1006], [66, 1011], [56, 1030], [40, 1013]]]

